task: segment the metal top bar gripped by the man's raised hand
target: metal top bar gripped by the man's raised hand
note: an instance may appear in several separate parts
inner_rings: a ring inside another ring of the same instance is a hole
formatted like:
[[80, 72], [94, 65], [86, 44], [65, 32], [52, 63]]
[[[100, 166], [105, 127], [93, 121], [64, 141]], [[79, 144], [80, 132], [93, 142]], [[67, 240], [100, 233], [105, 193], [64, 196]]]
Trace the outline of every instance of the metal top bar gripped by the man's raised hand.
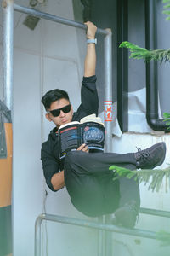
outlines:
[[[59, 16], [50, 15], [48, 13], [41, 12], [37, 9], [27, 8], [27, 7], [20, 6], [20, 5], [15, 4], [15, 3], [14, 3], [14, 10], [18, 11], [20, 13], [36, 16], [36, 17], [43, 18], [43, 19], [46, 19], [46, 20], [52, 20], [54, 22], [58, 22], [58, 23], [61, 23], [61, 24], [64, 24], [64, 25], [81, 28], [83, 30], [87, 29], [87, 26], [80, 23], [80, 22], [77, 22], [77, 21], [74, 21], [74, 20], [67, 20], [65, 18], [60, 18]], [[103, 35], [106, 36], [109, 32], [106, 31], [105, 29], [98, 28], [97, 33], [103, 34]]]

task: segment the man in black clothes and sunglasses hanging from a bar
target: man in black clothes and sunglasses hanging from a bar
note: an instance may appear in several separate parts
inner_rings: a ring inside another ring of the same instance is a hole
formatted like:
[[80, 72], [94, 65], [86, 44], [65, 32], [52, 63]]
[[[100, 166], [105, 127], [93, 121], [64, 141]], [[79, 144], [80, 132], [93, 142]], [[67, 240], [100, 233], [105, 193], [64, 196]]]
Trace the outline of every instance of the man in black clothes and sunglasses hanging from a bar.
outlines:
[[[96, 26], [87, 25], [87, 55], [82, 79], [82, 103], [73, 113], [69, 96], [64, 90], [50, 90], [42, 97], [47, 111], [46, 118], [56, 126], [50, 132], [48, 141], [42, 143], [42, 166], [48, 187], [57, 191], [64, 186], [71, 196], [71, 202], [78, 211], [92, 217], [115, 213], [114, 224], [133, 227], [139, 212], [139, 184], [133, 179], [119, 178], [109, 170], [111, 165], [136, 168], [153, 168], [161, 165], [165, 158], [165, 143], [137, 153], [88, 153], [88, 146], [82, 144], [77, 151], [66, 154], [59, 160], [58, 129], [71, 121], [80, 121], [84, 116], [98, 113], [98, 94], [96, 90]], [[59, 171], [60, 170], [60, 171]]]

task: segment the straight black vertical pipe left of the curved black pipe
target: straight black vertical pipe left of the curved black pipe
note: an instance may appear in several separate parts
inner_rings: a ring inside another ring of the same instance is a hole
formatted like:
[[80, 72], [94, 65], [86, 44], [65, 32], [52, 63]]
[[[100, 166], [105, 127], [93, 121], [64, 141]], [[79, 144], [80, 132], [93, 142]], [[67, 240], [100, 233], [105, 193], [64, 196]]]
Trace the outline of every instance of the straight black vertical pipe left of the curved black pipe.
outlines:
[[[117, 44], [128, 39], [128, 0], [117, 0]], [[128, 131], [128, 51], [117, 50], [117, 119]]]

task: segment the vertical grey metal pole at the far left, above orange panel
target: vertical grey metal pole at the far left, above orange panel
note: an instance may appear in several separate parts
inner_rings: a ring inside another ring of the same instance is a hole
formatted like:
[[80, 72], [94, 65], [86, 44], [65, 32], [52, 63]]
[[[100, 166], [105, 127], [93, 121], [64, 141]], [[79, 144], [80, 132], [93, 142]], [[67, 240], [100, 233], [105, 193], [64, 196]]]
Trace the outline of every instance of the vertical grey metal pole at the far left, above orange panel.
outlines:
[[13, 27], [14, 1], [3, 0], [3, 102], [9, 110], [13, 105]]

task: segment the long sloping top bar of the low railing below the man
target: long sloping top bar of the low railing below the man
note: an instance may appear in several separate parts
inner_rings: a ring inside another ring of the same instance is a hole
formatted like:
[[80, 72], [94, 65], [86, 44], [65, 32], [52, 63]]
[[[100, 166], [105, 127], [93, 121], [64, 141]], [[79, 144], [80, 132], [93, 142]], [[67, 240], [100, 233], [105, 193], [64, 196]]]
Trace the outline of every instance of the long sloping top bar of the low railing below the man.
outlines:
[[[140, 236], [140, 237], [145, 237], [150, 239], [157, 239], [156, 232], [152, 232], [148, 230], [126, 229], [126, 228], [117, 227], [111, 224], [99, 224], [99, 223], [95, 223], [95, 222], [91, 222], [83, 219], [67, 218], [64, 216], [51, 215], [51, 214], [41, 214], [38, 216], [37, 219], [39, 218], [42, 220], [54, 221], [54, 222], [63, 223], [63, 224], [74, 224], [77, 226], [82, 226], [82, 227], [91, 228], [91, 229], [107, 230], [111, 232], [127, 234], [130, 236]], [[37, 221], [37, 223], [40, 224], [42, 223], [42, 221]]]

